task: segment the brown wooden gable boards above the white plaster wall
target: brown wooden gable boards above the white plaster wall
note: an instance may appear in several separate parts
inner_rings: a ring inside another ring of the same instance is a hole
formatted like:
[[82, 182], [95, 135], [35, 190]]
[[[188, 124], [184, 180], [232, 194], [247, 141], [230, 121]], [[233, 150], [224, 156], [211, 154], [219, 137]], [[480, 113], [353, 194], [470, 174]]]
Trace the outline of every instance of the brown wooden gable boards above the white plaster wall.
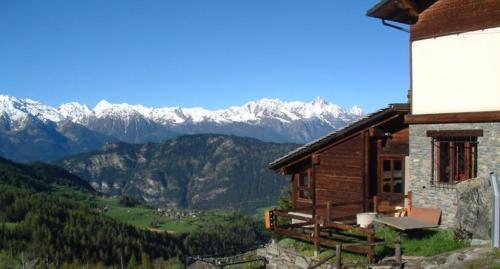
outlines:
[[440, 0], [419, 15], [411, 40], [499, 26], [499, 0]]

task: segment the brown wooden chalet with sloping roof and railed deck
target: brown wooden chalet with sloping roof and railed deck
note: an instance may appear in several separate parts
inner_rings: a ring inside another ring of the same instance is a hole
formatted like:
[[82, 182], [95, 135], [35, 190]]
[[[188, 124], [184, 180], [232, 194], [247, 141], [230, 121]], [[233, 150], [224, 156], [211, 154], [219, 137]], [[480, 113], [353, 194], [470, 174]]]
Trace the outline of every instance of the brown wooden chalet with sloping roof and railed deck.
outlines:
[[[335, 245], [319, 236], [329, 228], [362, 232], [373, 239], [373, 230], [353, 224], [357, 213], [374, 210], [375, 196], [391, 205], [403, 204], [408, 113], [408, 104], [391, 104], [272, 162], [270, 169], [290, 177], [292, 208], [270, 211], [268, 228], [313, 241], [318, 248]], [[278, 217], [292, 221], [281, 225]], [[311, 227], [312, 236], [306, 231]]]

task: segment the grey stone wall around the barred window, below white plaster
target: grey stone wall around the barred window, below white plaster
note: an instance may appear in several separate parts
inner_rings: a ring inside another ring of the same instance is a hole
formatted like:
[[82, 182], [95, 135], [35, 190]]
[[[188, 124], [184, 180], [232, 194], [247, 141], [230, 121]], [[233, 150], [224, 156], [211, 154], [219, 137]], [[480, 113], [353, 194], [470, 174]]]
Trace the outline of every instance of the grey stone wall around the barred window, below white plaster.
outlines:
[[487, 178], [490, 172], [500, 173], [500, 123], [410, 125], [410, 174], [406, 184], [409, 184], [409, 190], [414, 194], [414, 206], [441, 208], [441, 224], [444, 227], [456, 226], [457, 193], [455, 189], [438, 188], [430, 184], [432, 145], [427, 130], [463, 129], [482, 129], [484, 132], [478, 138], [477, 176]]

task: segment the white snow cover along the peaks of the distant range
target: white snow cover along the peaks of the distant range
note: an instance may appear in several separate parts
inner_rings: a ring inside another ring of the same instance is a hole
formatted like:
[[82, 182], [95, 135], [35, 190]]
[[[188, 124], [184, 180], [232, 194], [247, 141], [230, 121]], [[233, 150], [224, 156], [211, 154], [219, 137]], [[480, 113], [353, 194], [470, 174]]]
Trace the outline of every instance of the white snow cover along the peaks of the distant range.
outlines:
[[44, 122], [57, 123], [67, 119], [82, 125], [86, 125], [91, 118], [128, 120], [138, 116], [162, 125], [201, 122], [259, 124], [263, 120], [278, 120], [286, 124], [297, 120], [319, 119], [333, 126], [339, 119], [348, 121], [363, 114], [362, 109], [358, 106], [343, 109], [320, 97], [310, 103], [284, 102], [278, 99], [263, 98], [248, 102], [243, 106], [232, 106], [223, 110], [207, 110], [180, 107], [148, 108], [126, 103], [112, 104], [106, 100], [100, 101], [93, 109], [77, 102], [53, 108], [30, 99], [19, 99], [6, 95], [0, 95], [0, 112], [8, 116], [11, 121], [19, 121], [31, 115]]

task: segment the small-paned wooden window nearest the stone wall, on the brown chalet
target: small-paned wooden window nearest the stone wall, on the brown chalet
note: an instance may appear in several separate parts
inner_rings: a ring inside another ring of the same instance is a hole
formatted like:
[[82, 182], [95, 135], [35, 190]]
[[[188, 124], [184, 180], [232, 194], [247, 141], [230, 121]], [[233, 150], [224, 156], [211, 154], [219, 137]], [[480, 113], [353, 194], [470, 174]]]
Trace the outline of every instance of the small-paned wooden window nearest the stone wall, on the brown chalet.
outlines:
[[404, 191], [404, 157], [381, 157], [380, 163], [380, 191], [402, 194]]

